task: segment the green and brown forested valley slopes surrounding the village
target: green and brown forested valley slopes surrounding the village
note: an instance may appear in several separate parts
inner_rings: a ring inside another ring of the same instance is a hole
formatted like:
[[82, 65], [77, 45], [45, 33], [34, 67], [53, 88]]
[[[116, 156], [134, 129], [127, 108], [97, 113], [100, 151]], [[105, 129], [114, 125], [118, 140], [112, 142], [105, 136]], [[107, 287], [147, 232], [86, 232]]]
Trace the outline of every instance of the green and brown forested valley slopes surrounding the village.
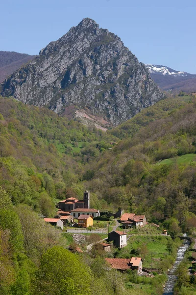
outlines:
[[[84, 189], [91, 207], [168, 226], [174, 248], [178, 234], [196, 236], [196, 97], [162, 100], [103, 132], [0, 96], [1, 295], [162, 294], [159, 277], [151, 293], [131, 289], [133, 274], [124, 281], [101, 256], [71, 253], [68, 237], [39, 217]], [[194, 294], [193, 284], [176, 294]]]

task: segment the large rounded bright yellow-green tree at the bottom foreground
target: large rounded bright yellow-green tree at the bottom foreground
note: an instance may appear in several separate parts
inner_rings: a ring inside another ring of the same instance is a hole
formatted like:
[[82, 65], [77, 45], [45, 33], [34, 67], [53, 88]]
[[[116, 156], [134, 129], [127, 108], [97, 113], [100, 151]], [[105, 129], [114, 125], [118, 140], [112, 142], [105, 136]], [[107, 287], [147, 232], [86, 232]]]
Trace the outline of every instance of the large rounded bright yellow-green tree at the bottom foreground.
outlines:
[[41, 259], [37, 291], [48, 295], [90, 295], [91, 281], [88, 266], [67, 249], [54, 246]]

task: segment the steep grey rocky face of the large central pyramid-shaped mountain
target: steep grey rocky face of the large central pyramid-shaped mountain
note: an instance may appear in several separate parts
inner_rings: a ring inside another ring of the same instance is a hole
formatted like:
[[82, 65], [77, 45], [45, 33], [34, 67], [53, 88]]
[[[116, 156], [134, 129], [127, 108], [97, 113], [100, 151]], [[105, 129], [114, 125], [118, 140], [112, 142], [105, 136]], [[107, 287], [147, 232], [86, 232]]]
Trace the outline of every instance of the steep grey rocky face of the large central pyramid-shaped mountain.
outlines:
[[88, 18], [6, 79], [1, 94], [58, 114], [74, 104], [111, 125], [165, 98], [121, 39]]

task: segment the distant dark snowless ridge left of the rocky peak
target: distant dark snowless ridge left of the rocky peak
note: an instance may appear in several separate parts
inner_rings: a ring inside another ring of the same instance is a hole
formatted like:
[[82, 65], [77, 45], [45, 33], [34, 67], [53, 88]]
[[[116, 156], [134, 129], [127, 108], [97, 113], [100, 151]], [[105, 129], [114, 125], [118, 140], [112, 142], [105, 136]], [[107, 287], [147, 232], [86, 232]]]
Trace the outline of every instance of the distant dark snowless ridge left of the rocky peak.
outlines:
[[19, 67], [34, 59], [36, 56], [31, 56], [25, 53], [14, 51], [0, 51], [0, 83], [13, 74]]

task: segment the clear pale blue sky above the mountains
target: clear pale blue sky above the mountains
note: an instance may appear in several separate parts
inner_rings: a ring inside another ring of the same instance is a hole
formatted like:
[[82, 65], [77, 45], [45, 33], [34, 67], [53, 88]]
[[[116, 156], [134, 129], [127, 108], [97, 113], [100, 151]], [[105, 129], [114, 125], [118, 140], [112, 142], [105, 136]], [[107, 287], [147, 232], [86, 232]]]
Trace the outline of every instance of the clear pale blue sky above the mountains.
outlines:
[[0, 50], [38, 54], [85, 17], [139, 61], [196, 74], [196, 0], [4, 0]]

